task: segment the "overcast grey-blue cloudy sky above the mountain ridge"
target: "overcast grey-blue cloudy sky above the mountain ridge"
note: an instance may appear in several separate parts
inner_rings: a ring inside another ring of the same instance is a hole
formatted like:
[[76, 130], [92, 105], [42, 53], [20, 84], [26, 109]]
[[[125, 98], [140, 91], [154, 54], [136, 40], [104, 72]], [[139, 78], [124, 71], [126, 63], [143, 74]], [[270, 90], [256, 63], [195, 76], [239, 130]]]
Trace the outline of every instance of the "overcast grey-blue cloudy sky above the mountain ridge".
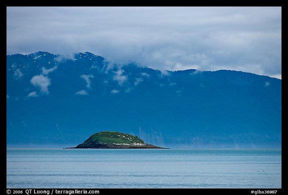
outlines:
[[90, 51], [154, 69], [281, 78], [281, 7], [7, 7], [7, 54]]

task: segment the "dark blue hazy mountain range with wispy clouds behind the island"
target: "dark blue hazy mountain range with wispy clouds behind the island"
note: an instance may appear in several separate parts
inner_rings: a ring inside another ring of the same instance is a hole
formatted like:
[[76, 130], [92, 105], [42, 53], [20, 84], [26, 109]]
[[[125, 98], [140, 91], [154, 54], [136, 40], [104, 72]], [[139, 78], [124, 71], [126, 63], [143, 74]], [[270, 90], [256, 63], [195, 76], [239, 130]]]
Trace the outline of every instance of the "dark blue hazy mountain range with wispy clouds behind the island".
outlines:
[[162, 147], [281, 146], [281, 80], [160, 71], [90, 52], [6, 56], [7, 145], [74, 146], [103, 130]]

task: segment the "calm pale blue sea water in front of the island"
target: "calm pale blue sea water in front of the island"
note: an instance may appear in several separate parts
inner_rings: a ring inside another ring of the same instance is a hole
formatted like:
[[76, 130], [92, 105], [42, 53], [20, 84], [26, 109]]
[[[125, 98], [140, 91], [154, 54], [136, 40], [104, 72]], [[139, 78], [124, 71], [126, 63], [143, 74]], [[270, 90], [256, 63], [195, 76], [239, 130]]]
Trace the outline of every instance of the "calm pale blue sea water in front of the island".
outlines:
[[281, 188], [280, 149], [7, 149], [7, 188]]

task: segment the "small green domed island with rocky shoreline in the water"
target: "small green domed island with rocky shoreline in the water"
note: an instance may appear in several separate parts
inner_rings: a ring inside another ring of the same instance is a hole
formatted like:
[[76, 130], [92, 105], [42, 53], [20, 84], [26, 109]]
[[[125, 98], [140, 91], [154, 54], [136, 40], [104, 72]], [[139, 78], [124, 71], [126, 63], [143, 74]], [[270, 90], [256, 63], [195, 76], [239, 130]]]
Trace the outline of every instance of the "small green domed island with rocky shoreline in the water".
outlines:
[[168, 149], [147, 144], [137, 136], [115, 131], [101, 131], [94, 133], [76, 147], [66, 148]]

